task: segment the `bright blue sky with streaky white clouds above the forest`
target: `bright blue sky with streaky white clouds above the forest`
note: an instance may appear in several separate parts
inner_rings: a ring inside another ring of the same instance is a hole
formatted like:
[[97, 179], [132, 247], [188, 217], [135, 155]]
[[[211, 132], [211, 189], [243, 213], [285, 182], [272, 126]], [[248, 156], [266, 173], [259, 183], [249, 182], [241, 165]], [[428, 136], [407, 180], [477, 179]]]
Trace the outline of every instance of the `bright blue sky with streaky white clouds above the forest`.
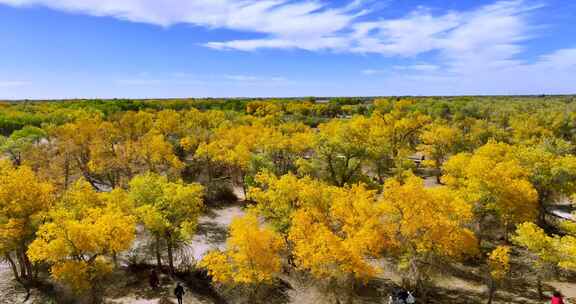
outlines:
[[0, 0], [0, 98], [576, 93], [572, 0]]

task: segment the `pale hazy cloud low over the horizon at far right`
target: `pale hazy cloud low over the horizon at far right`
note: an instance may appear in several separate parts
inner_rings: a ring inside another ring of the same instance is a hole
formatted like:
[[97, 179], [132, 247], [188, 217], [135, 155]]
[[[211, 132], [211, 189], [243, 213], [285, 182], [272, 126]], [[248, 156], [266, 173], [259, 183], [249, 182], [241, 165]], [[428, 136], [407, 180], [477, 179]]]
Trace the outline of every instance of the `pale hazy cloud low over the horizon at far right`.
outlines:
[[574, 94], [576, 48], [554, 51], [535, 62], [518, 61], [473, 71], [450, 67], [429, 73], [395, 69], [378, 76], [377, 81], [386, 91], [376, 95]]

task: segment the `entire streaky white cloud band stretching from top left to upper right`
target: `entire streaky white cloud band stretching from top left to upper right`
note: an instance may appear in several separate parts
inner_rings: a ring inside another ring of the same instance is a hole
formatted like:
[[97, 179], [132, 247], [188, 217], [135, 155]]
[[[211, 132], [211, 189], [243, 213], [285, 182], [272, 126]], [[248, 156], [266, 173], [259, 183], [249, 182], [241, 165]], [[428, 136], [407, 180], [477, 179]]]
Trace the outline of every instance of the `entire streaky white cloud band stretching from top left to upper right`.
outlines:
[[390, 56], [439, 51], [470, 63], [474, 61], [471, 57], [478, 56], [507, 61], [521, 51], [518, 43], [527, 38], [529, 28], [523, 13], [537, 8], [526, 1], [533, 0], [500, 0], [440, 15], [417, 8], [397, 19], [372, 21], [358, 17], [370, 11], [373, 0], [349, 0], [340, 7], [321, 0], [0, 0], [0, 4], [39, 5], [160, 26], [184, 23], [264, 35], [205, 44], [220, 50], [293, 48]]

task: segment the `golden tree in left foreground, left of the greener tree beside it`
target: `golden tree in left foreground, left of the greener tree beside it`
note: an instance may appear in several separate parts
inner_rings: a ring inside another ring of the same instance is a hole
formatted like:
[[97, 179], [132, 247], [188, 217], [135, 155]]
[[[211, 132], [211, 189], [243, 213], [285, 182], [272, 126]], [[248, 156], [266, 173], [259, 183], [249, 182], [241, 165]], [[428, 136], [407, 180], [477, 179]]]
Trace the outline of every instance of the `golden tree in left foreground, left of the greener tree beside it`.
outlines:
[[85, 182], [74, 184], [50, 212], [28, 249], [33, 262], [48, 263], [54, 279], [78, 294], [95, 296], [112, 271], [110, 258], [129, 249], [136, 219], [107, 204]]

